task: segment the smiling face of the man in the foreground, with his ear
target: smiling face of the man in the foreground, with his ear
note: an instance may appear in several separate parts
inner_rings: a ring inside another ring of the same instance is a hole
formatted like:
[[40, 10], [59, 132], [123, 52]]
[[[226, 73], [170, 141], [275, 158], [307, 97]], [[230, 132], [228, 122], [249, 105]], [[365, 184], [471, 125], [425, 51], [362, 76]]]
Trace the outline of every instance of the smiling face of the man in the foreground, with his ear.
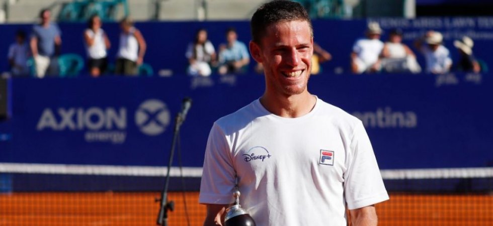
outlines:
[[252, 56], [264, 65], [266, 91], [284, 96], [306, 91], [313, 54], [308, 22], [279, 22], [266, 31], [260, 45], [250, 43]]

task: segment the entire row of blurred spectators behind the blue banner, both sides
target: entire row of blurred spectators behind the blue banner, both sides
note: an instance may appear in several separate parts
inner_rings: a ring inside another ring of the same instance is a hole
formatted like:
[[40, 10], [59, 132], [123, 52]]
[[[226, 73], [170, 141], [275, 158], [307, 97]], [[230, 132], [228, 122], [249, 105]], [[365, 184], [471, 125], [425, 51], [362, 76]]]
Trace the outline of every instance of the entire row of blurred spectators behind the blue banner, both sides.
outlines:
[[[51, 12], [42, 10], [40, 23], [32, 27], [27, 35], [20, 30], [16, 41], [8, 52], [11, 73], [16, 76], [34, 74], [38, 78], [60, 73], [60, 46], [62, 39], [58, 26], [51, 22]], [[86, 65], [93, 77], [112, 73], [117, 75], [137, 75], [143, 64], [146, 51], [145, 39], [134, 27], [130, 18], [120, 21], [120, 36], [116, 60], [108, 62], [107, 51], [110, 40], [102, 28], [102, 21], [97, 15], [88, 21], [84, 31], [84, 43], [87, 52]], [[454, 41], [459, 51], [459, 58], [452, 60], [449, 49], [443, 44], [443, 36], [437, 31], [428, 31], [417, 39], [414, 47], [425, 59], [424, 70], [418, 63], [411, 48], [402, 43], [403, 32], [400, 29], [389, 31], [388, 40], [381, 41], [384, 31], [378, 23], [368, 24], [365, 36], [355, 41], [351, 53], [351, 71], [361, 73], [425, 73], [443, 74], [449, 71], [481, 71], [472, 48], [474, 42], [469, 37]], [[225, 43], [216, 48], [207, 38], [207, 31], [199, 29], [188, 45], [185, 57], [188, 59], [187, 74], [191, 76], [210, 76], [213, 73], [242, 74], [249, 71], [250, 53], [245, 43], [238, 40], [234, 28], [225, 31]], [[333, 56], [320, 45], [314, 43], [312, 57], [312, 74], [321, 71], [320, 64], [330, 61]], [[263, 73], [262, 64], [255, 66], [255, 71]]]

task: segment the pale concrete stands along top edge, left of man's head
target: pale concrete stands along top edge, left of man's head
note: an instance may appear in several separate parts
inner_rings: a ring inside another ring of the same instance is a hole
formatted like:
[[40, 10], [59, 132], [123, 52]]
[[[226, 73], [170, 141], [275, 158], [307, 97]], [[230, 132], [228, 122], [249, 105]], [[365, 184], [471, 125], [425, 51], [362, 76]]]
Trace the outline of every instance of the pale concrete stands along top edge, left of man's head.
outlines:
[[[50, 8], [53, 15], [64, 13], [64, 17], [72, 19], [79, 16], [71, 10], [84, 5], [84, 2], [94, 2], [91, 0], [75, 0], [75, 3], [62, 12], [63, 6], [70, 5], [70, 2], [60, 2], [56, 0], [17, 0], [8, 2], [6, 12], [7, 22], [9, 23], [33, 23], [37, 20], [39, 10]], [[101, 2], [111, 3], [113, 0], [103, 0]], [[122, 1], [117, 1], [122, 2]], [[198, 0], [126, 0], [130, 15], [136, 21], [144, 20], [244, 20], [251, 17], [253, 11], [265, 0], [209, 0], [203, 5]], [[71, 7], [71, 9], [69, 9]], [[205, 8], [203, 8], [205, 7]], [[206, 9], [206, 10], [205, 10]], [[67, 15], [68, 13], [68, 15]], [[80, 13], [80, 12], [79, 12]], [[117, 9], [114, 13], [117, 18], [125, 15], [124, 9]]]

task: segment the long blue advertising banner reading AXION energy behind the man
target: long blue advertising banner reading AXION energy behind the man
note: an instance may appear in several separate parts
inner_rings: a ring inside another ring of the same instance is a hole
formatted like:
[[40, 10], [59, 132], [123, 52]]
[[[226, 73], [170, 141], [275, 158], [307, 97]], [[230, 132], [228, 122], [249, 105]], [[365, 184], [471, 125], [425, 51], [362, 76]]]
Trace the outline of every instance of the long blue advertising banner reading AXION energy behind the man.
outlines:
[[[165, 166], [188, 96], [183, 164], [200, 167], [213, 122], [259, 98], [264, 78], [14, 78], [11, 85], [0, 162]], [[489, 76], [317, 75], [309, 90], [363, 121], [382, 169], [493, 164]]]

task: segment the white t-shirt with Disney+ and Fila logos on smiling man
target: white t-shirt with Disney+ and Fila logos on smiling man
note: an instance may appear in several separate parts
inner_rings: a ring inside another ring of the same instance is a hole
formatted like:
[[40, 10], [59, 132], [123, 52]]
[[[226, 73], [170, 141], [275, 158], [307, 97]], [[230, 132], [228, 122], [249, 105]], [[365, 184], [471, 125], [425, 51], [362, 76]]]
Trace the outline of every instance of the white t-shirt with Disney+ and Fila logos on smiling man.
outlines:
[[363, 124], [317, 98], [299, 118], [259, 100], [216, 121], [209, 134], [200, 203], [240, 204], [257, 226], [347, 225], [346, 206], [388, 199]]

